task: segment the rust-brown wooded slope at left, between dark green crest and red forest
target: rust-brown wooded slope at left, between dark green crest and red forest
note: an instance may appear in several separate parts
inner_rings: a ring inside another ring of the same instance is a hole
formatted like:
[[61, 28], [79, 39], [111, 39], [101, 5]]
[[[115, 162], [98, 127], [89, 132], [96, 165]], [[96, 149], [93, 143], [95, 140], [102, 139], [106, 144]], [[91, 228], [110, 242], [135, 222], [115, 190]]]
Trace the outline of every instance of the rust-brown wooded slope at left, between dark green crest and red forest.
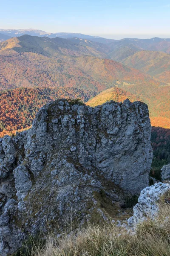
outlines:
[[[79, 87], [91, 91], [102, 87], [78, 67], [32, 52], [0, 55], [0, 73], [6, 79], [6, 88], [11, 84], [14, 87]], [[3, 85], [0, 89], [6, 88]]]

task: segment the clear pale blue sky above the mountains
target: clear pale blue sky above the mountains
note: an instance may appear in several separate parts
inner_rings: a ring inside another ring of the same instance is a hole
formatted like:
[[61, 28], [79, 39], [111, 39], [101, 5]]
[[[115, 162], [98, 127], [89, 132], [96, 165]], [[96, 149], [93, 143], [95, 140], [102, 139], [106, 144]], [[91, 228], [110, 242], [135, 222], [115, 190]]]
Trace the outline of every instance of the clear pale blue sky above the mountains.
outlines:
[[0, 0], [0, 29], [170, 38], [170, 0]]

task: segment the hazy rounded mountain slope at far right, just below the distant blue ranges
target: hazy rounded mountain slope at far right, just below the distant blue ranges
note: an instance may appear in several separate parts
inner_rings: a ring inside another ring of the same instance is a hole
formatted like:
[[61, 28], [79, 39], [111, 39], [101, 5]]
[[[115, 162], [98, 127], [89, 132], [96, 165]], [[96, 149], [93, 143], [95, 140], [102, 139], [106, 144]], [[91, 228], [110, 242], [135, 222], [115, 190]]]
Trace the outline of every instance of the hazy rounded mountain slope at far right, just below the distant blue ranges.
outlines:
[[164, 52], [141, 51], [122, 61], [129, 67], [135, 67], [155, 79], [170, 83], [170, 54]]

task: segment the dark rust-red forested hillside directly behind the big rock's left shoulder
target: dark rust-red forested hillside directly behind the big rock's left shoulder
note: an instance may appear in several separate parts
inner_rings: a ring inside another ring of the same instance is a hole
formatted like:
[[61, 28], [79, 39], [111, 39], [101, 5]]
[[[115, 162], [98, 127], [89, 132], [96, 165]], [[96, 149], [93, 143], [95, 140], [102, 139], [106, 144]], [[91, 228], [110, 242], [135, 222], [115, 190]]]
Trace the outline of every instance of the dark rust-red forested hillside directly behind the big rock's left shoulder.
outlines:
[[88, 90], [70, 88], [18, 88], [0, 92], [0, 137], [32, 125], [35, 114], [47, 102], [58, 98], [81, 98], [88, 101], [95, 96]]

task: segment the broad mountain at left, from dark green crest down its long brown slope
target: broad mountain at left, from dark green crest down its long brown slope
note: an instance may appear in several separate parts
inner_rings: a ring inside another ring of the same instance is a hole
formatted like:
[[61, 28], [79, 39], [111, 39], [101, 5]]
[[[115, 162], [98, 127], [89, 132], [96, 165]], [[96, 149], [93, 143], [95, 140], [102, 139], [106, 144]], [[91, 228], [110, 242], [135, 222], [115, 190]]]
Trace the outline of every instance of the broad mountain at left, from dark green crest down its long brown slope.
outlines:
[[92, 47], [63, 38], [11, 38], [0, 44], [0, 73], [14, 87], [67, 86], [101, 91], [117, 83], [162, 85], [124, 64], [85, 56], [94, 54], [92, 51]]

